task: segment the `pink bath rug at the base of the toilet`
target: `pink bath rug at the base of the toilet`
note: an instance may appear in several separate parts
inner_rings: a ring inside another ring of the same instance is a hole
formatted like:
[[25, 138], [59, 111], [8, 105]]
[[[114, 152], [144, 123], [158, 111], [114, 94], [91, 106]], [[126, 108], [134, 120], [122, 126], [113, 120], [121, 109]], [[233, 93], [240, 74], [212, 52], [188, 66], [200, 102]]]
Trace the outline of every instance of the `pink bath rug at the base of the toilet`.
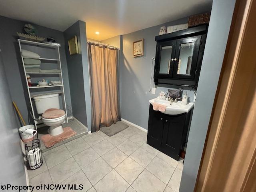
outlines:
[[76, 134], [76, 132], [73, 131], [71, 127], [65, 127], [63, 128], [63, 130], [64, 132], [62, 134], [56, 136], [51, 136], [50, 134], [47, 134], [41, 137], [41, 140], [44, 142], [46, 148], [54, 146], [56, 143], [61, 142], [67, 138], [70, 138]]

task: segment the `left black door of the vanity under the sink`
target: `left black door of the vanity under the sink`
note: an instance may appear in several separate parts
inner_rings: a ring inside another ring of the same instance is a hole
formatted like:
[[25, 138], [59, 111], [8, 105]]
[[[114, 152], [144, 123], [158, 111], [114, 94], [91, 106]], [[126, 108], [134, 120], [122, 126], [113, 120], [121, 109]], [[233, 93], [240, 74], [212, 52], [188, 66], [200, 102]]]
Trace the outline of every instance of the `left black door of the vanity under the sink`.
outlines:
[[147, 143], [153, 146], [154, 148], [160, 147], [162, 143], [163, 129], [163, 114], [159, 111], [154, 111], [153, 106], [150, 104]]

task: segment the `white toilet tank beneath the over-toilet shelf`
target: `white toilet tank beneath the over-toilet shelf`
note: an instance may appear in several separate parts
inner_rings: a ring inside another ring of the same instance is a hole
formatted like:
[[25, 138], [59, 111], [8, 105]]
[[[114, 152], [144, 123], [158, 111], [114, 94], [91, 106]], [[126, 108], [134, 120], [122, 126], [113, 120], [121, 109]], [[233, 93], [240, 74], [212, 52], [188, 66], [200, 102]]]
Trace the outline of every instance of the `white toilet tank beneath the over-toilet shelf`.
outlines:
[[50, 94], [34, 97], [36, 111], [38, 114], [44, 113], [50, 108], [60, 108], [59, 94]]

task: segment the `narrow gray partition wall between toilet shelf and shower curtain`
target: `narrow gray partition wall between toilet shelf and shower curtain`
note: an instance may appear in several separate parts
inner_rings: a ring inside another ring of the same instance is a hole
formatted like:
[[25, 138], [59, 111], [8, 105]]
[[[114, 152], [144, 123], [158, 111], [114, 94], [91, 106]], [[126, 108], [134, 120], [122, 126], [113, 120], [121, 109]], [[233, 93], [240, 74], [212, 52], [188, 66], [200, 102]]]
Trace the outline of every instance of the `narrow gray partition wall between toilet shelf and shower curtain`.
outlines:
[[[84, 92], [84, 73], [83, 73], [83, 60], [81, 42], [85, 41], [84, 32], [81, 32], [80, 21], [74, 23], [64, 31], [66, 58], [68, 63], [68, 76], [70, 84], [70, 95], [72, 101], [73, 116], [78, 119], [82, 124], [88, 126], [86, 116], [86, 100]], [[70, 55], [68, 50], [68, 40], [76, 35], [78, 37], [79, 54]]]

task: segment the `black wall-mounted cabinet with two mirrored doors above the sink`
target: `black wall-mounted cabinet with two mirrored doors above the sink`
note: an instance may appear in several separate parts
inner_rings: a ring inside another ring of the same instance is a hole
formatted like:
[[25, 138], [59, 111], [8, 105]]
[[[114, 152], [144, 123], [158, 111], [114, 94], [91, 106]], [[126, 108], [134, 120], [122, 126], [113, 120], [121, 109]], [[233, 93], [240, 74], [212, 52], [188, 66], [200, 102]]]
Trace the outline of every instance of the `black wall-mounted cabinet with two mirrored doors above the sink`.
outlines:
[[156, 36], [155, 85], [197, 86], [207, 28], [202, 25]]

